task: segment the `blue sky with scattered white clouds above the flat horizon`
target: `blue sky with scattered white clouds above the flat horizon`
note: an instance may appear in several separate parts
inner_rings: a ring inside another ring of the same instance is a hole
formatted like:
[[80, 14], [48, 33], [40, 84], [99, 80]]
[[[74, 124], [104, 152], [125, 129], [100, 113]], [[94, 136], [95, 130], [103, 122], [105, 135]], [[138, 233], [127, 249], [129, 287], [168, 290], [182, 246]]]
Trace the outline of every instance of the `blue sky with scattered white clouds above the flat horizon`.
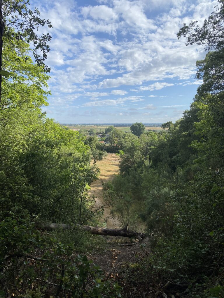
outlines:
[[32, 0], [53, 28], [47, 116], [60, 123], [167, 122], [197, 88], [203, 46], [177, 39], [210, 15], [212, 0]]

